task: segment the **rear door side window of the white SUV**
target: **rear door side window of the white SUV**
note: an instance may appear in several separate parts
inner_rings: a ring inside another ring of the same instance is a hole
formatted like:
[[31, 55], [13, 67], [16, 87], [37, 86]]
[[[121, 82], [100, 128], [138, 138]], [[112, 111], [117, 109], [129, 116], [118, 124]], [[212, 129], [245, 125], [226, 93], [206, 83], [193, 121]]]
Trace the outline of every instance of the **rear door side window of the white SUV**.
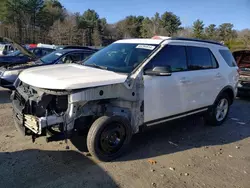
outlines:
[[187, 46], [188, 69], [201, 70], [217, 68], [217, 61], [208, 48]]

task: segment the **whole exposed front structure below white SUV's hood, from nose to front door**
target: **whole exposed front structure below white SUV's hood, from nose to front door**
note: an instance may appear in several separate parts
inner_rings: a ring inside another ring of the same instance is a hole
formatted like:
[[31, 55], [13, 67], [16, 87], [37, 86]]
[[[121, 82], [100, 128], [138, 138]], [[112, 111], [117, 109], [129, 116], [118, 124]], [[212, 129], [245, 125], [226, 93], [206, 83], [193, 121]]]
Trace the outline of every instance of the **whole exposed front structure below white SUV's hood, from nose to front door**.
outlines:
[[134, 125], [134, 133], [143, 124], [140, 83], [132, 89], [124, 84], [114, 84], [65, 91], [36, 88], [18, 79], [15, 87], [16, 91], [11, 95], [14, 118], [25, 135], [44, 136], [53, 127], [71, 135], [73, 130], [86, 128], [103, 115], [126, 117]]

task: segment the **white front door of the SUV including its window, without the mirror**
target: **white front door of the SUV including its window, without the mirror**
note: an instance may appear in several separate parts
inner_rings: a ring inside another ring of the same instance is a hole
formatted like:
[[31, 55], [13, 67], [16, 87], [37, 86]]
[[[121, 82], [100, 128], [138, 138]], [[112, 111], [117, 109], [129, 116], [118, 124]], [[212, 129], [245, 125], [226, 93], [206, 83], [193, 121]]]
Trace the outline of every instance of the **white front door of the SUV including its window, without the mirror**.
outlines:
[[171, 75], [144, 73], [144, 122], [164, 121], [185, 111], [185, 91], [182, 87], [187, 74], [185, 46], [165, 46], [145, 66], [144, 72], [154, 67], [168, 67]]

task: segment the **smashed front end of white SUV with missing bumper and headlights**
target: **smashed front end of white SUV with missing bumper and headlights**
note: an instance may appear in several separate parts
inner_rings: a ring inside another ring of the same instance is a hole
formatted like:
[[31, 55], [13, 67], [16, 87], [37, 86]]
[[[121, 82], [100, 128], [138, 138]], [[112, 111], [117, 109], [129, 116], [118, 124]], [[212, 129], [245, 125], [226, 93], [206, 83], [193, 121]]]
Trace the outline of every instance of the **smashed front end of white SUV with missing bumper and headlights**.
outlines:
[[14, 120], [24, 135], [40, 136], [46, 129], [64, 123], [68, 109], [68, 93], [49, 93], [16, 81], [16, 90], [11, 95]]

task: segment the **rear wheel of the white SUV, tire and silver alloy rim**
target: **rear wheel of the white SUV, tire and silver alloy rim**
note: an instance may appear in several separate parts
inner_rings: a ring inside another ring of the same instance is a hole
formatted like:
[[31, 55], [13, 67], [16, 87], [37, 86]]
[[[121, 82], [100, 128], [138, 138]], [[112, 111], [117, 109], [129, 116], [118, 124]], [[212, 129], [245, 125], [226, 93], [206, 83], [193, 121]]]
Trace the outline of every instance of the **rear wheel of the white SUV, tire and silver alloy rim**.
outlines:
[[227, 118], [230, 107], [230, 100], [227, 94], [222, 94], [215, 101], [212, 108], [207, 112], [206, 122], [209, 125], [219, 126]]

